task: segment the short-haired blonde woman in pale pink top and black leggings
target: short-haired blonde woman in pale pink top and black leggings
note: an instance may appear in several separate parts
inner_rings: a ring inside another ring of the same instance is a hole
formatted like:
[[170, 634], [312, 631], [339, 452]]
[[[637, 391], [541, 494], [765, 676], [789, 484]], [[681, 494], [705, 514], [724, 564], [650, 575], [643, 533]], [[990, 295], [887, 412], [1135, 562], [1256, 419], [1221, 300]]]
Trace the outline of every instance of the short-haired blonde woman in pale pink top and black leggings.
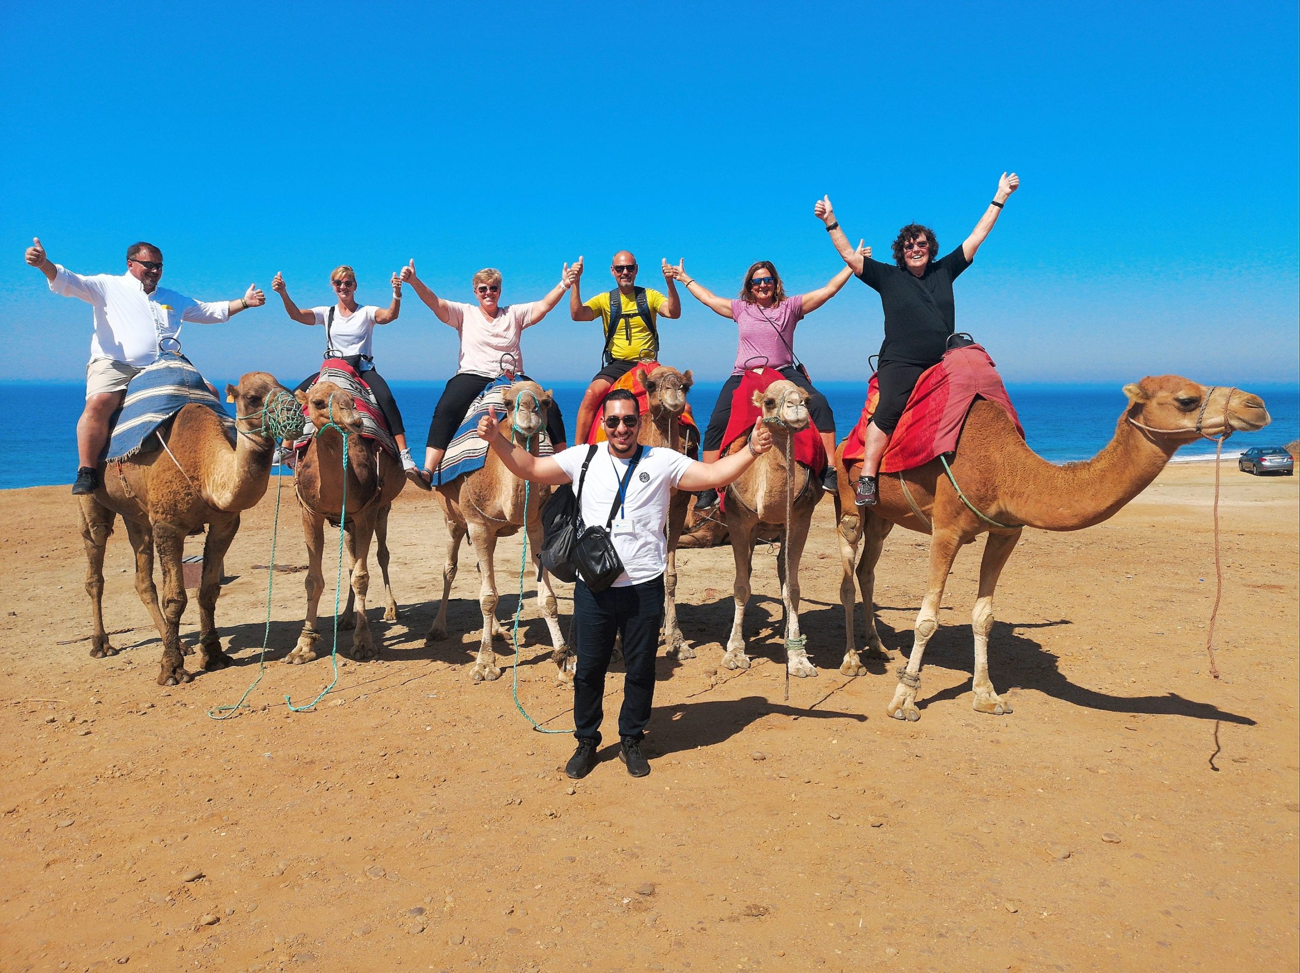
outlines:
[[[484, 268], [473, 275], [471, 286], [477, 304], [462, 304], [439, 297], [415, 273], [415, 261], [402, 268], [402, 281], [415, 288], [420, 300], [429, 305], [437, 318], [456, 329], [460, 335], [460, 359], [456, 374], [438, 396], [429, 421], [429, 439], [424, 449], [424, 469], [407, 470], [407, 479], [421, 490], [432, 490], [433, 472], [442, 462], [456, 429], [465, 421], [469, 405], [480, 392], [491, 385], [503, 370], [510, 369], [516, 378], [524, 374], [524, 356], [519, 349], [525, 327], [532, 327], [559, 304], [576, 277], [568, 264], [560, 272], [560, 282], [541, 300], [528, 304], [502, 304], [500, 270]], [[546, 416], [546, 434], [555, 449], [564, 448], [564, 421], [558, 405], [551, 405]]]

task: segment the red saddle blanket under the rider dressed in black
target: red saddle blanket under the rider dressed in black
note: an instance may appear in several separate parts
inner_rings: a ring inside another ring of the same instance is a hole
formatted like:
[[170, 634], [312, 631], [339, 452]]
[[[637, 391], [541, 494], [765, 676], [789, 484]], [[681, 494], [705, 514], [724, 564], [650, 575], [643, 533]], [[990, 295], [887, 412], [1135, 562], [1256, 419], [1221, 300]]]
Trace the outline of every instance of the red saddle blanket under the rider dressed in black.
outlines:
[[[953, 348], [933, 368], [920, 373], [916, 387], [911, 390], [902, 418], [894, 427], [880, 462], [881, 473], [923, 466], [940, 453], [953, 452], [962, 434], [966, 413], [975, 399], [996, 401], [1015, 423], [1015, 430], [1024, 438], [1024, 429], [1006, 395], [1002, 377], [997, 374], [993, 360], [979, 344]], [[844, 462], [846, 466], [863, 456], [863, 435], [867, 422], [880, 400], [880, 387], [871, 375], [867, 386], [867, 403], [862, 407], [858, 425], [844, 440]]]

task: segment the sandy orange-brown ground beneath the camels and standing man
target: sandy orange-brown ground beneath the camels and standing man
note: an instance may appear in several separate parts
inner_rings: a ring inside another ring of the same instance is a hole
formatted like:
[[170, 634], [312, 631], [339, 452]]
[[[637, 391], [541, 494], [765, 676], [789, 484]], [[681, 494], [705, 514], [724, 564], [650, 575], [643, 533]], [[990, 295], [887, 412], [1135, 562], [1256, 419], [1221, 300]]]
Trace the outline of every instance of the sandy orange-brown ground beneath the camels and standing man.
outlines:
[[[927, 651], [920, 722], [885, 717], [883, 663], [838, 674], [826, 501], [802, 578], [819, 677], [783, 701], [771, 548], [746, 626], [766, 661], [719, 670], [731, 551], [686, 552], [699, 657], [660, 659], [654, 773], [614, 759], [610, 713], [606, 763], [576, 787], [560, 773], [572, 739], [529, 729], [508, 669], [469, 682], [472, 557], [452, 638], [424, 646], [445, 538], [424, 495], [393, 513], [403, 611], [377, 624], [380, 661], [289, 712], [330, 664], [276, 661], [304, 577], [277, 573], [254, 709], [216, 722], [207, 711], [257, 674], [274, 491], [226, 560], [218, 624], [240, 665], [172, 690], [153, 682], [125, 531], [105, 614], [130, 631], [94, 660], [68, 643], [90, 612], [66, 487], [5, 491], [0, 968], [1297, 969], [1297, 479], [1223, 477], [1221, 682], [1204, 652], [1212, 465], [1171, 466], [1098, 527], [1026, 531], [992, 637], [1005, 717], [970, 708], [974, 551]], [[512, 590], [517, 540], [500, 551]], [[306, 564], [290, 491], [277, 560]], [[890, 668], [924, 565], [926, 539], [896, 530], [878, 595]], [[191, 600], [191, 638], [195, 617]], [[532, 598], [524, 621], [520, 700], [571, 726]]]

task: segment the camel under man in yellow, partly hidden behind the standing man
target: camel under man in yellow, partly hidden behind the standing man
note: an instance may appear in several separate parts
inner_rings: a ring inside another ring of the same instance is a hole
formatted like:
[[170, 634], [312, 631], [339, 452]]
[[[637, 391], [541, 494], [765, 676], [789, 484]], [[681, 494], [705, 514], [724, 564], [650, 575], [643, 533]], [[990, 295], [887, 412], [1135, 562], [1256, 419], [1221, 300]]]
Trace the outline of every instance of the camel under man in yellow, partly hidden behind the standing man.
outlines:
[[[644, 420], [637, 430], [637, 442], [642, 446], [660, 446], [686, 456], [697, 456], [699, 451], [699, 430], [681, 422], [686, 411], [686, 392], [694, 385], [690, 369], [685, 373], [667, 365], [659, 365], [642, 379], [649, 408], [641, 413]], [[690, 507], [689, 492], [672, 491], [668, 501], [668, 569], [663, 577], [663, 639], [668, 655], [677, 659], [694, 659], [696, 650], [686, 644], [677, 627], [677, 540], [686, 525], [686, 509]]]

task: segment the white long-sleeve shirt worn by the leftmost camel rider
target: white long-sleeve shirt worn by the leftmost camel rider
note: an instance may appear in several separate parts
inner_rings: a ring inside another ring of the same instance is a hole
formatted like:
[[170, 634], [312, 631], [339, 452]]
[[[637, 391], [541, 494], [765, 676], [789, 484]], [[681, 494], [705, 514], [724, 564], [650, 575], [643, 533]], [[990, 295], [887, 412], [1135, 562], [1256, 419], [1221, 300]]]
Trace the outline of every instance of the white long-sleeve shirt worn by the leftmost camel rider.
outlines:
[[159, 343], [181, 334], [182, 321], [214, 325], [229, 320], [229, 301], [205, 303], [165, 287], [146, 294], [130, 274], [82, 277], [55, 264], [49, 290], [65, 297], [79, 297], [95, 310], [95, 334], [90, 339], [90, 360], [112, 359], [135, 368], [152, 365]]

